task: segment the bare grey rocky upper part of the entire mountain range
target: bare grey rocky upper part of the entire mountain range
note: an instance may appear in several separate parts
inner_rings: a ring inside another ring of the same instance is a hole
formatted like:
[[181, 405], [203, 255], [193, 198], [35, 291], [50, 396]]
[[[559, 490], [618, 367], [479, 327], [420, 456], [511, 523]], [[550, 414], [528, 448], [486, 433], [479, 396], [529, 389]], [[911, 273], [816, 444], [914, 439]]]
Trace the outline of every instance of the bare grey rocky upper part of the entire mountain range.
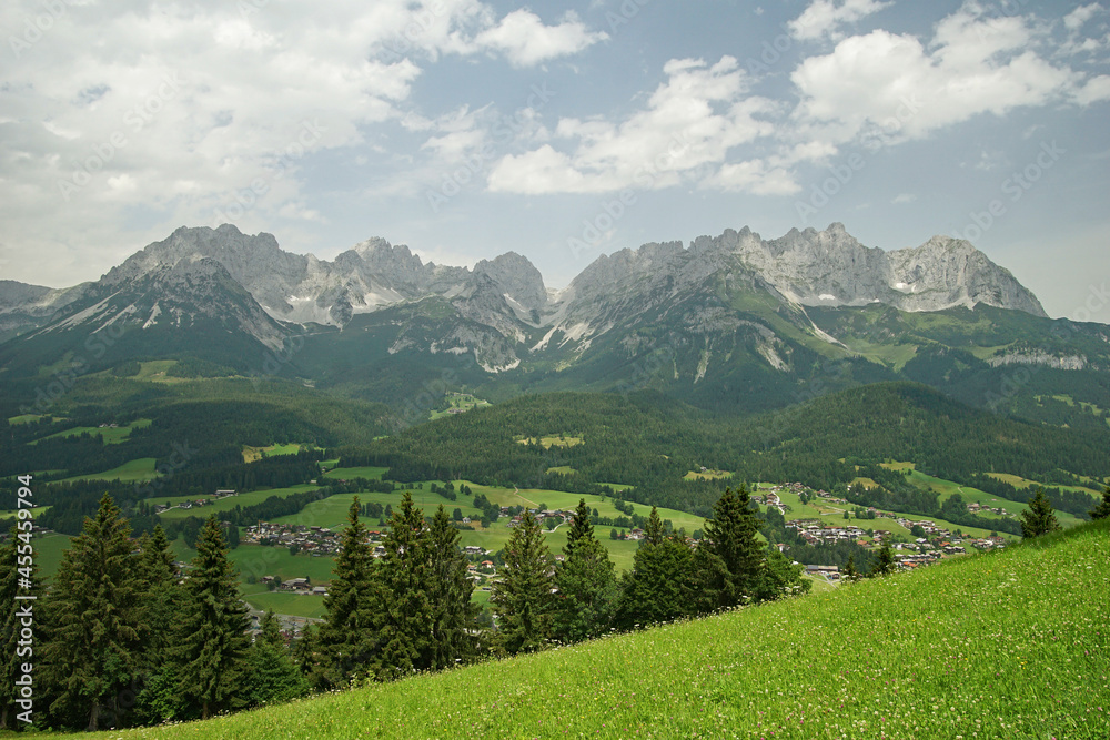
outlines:
[[1036, 296], [965, 241], [935, 236], [885, 252], [860, 244], [838, 223], [770, 241], [745, 227], [700, 236], [688, 247], [667, 242], [622, 250], [598, 257], [557, 294], [515, 252], [470, 270], [425, 263], [407, 246], [371, 239], [329, 262], [285, 252], [271, 234], [224, 224], [179, 229], [97, 283], [69, 291], [0, 282], [0, 332], [8, 325], [52, 331], [72, 326], [74, 316], [144, 328], [203, 321], [279, 347], [303, 331], [297, 324], [342, 328], [360, 314], [430, 302], [435, 330], [402, 327], [391, 352], [474, 353], [481, 366], [502, 372], [552, 348], [581, 356], [614, 328], [630, 353], [648, 341], [636, 332], [670, 322], [685, 327], [687, 338], [704, 338], [706, 363], [710, 352], [733, 352], [719, 348], [728, 335], [785, 371], [778, 338], [735, 315], [739, 304], [729, 302], [738, 294], [791, 313], [804, 332], [834, 344], [805, 307], [880, 303], [922, 312], [986, 304], [1045, 315]]

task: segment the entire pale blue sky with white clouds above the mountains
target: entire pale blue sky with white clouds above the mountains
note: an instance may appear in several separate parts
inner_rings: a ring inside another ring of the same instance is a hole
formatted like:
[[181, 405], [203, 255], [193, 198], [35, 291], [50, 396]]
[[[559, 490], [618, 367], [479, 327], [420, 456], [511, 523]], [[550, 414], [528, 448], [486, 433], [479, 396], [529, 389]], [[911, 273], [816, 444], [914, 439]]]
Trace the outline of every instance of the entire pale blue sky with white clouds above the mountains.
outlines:
[[231, 222], [322, 259], [514, 250], [561, 287], [839, 221], [969, 239], [1051, 315], [1110, 282], [1099, 2], [7, 0], [0, 28], [0, 277]]

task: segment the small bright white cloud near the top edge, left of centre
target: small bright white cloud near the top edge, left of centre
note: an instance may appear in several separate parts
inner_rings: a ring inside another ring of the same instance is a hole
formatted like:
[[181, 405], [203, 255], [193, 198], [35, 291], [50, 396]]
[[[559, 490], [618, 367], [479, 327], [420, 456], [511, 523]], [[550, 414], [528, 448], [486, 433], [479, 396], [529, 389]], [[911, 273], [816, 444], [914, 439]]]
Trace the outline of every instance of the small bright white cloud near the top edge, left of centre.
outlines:
[[544, 26], [538, 16], [522, 9], [505, 16], [474, 41], [478, 47], [503, 52], [516, 67], [532, 67], [577, 53], [608, 38], [605, 32], [589, 31], [573, 12], [568, 12], [558, 26]]

